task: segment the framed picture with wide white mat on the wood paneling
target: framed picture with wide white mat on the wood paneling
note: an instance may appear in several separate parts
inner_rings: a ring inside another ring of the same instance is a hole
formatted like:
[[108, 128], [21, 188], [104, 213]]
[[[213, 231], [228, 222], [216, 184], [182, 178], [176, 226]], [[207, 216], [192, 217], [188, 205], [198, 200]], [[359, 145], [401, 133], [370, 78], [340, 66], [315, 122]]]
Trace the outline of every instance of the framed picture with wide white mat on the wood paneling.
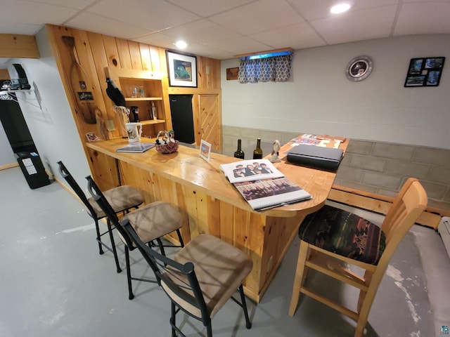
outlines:
[[169, 86], [197, 88], [197, 58], [192, 55], [166, 51]]

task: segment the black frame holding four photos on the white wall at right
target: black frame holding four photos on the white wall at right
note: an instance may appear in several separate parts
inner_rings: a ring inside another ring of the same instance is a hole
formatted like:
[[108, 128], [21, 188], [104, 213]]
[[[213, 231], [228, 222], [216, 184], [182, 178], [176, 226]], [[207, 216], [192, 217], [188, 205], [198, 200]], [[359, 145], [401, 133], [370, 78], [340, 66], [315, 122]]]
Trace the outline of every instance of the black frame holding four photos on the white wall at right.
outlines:
[[404, 86], [439, 86], [444, 57], [411, 58]]

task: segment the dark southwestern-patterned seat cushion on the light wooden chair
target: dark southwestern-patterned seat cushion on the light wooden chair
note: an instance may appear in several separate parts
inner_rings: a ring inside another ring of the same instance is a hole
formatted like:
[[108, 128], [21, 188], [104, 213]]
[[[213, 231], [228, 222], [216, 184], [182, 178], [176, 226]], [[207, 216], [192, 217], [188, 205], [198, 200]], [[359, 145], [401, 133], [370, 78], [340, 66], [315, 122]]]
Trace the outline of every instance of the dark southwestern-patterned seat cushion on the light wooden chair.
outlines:
[[300, 225], [301, 240], [354, 260], [376, 265], [385, 250], [385, 233], [353, 213], [323, 206]]

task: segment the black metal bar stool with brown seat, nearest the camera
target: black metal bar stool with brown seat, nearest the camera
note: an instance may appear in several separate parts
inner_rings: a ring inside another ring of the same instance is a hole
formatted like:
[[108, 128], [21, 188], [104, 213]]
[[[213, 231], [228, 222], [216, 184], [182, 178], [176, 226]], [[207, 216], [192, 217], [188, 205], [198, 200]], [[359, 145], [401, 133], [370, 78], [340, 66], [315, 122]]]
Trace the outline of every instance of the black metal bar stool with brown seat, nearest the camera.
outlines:
[[[203, 322], [207, 336], [212, 337], [211, 319], [230, 298], [243, 308], [245, 327], [252, 327], [243, 280], [250, 274], [253, 262], [243, 251], [210, 234], [200, 234], [171, 259], [146, 246], [127, 220], [119, 226], [122, 235], [139, 248], [171, 300], [172, 337], [185, 336], [176, 326], [176, 314], [180, 310]], [[233, 298], [236, 290], [240, 302]]]

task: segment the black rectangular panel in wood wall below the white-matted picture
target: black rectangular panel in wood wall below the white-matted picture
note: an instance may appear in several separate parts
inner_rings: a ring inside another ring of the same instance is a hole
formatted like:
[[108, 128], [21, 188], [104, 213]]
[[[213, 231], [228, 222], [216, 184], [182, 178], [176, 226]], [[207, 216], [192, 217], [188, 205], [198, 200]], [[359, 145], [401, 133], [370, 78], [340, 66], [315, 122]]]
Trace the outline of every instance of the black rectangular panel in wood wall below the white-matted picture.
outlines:
[[169, 95], [172, 128], [181, 143], [195, 143], [192, 95]]

